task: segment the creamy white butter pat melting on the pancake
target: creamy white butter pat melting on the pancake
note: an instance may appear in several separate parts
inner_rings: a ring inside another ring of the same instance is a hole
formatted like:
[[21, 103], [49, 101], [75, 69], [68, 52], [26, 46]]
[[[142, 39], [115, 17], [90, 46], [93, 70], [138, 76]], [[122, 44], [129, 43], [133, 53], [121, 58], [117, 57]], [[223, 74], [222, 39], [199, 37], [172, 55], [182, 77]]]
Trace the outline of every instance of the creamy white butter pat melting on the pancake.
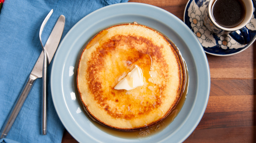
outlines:
[[143, 76], [142, 71], [139, 66], [135, 65], [135, 68], [129, 72], [125, 78], [123, 78], [115, 87], [114, 89], [125, 89], [125, 90], [132, 90], [136, 87], [143, 86]]

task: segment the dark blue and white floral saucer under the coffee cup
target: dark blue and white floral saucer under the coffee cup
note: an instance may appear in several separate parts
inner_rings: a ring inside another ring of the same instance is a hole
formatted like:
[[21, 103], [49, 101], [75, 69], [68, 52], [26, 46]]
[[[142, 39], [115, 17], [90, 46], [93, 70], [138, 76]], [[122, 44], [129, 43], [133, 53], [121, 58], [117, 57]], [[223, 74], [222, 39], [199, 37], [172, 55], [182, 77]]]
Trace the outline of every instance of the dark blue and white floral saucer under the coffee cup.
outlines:
[[[183, 21], [194, 32], [197, 39], [203, 46], [205, 53], [215, 56], [231, 56], [244, 51], [256, 39], [256, 3], [253, 1], [253, 15], [250, 22], [246, 25], [252, 37], [252, 41], [242, 45], [235, 41], [229, 35], [220, 35], [210, 32], [203, 24], [203, 11], [205, 10], [209, 0], [189, 0], [187, 2]], [[237, 33], [240, 33], [238, 30]]]

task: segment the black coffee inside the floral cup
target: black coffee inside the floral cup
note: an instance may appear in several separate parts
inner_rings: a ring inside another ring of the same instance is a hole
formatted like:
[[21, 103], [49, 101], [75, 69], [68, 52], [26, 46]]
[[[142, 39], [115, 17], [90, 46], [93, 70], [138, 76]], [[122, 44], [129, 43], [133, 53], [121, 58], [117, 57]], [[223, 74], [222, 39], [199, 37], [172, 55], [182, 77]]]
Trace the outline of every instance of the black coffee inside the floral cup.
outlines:
[[245, 17], [245, 5], [242, 0], [216, 0], [212, 6], [212, 15], [216, 23], [232, 28], [240, 24]]

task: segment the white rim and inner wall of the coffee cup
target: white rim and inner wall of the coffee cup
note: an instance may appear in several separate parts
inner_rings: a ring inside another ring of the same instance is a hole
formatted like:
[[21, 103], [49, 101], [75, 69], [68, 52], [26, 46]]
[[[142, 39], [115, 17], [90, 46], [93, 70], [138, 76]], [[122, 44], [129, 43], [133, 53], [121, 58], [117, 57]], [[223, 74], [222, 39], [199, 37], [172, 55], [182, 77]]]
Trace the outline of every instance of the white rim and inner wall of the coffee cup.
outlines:
[[[209, 14], [209, 17], [210, 17], [211, 21], [213, 22], [213, 24], [216, 25], [217, 27], [219, 27], [220, 29], [225, 30], [225, 31], [236, 31], [236, 30], [242, 29], [243, 27], [246, 26], [246, 24], [248, 24], [250, 22], [252, 14], [253, 14], [252, 0], [242, 0], [245, 4], [245, 7], [246, 7], [245, 19], [242, 21], [242, 23], [240, 23], [239, 25], [237, 25], [233, 28], [225, 28], [225, 27], [222, 27], [221, 25], [219, 25], [215, 22], [214, 18], [212, 17], [212, 13], [211, 13], [211, 8], [212, 8], [212, 5], [215, 1], [216, 0], [210, 0], [209, 1], [208, 14]], [[247, 1], [247, 2], [245, 3], [245, 1]]]

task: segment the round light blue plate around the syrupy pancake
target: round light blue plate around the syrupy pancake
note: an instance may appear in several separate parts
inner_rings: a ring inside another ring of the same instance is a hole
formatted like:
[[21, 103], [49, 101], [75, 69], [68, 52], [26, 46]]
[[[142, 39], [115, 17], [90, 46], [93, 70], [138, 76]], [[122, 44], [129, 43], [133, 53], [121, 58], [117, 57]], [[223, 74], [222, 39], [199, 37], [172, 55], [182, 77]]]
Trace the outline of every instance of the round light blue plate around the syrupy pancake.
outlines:
[[[115, 24], [136, 21], [169, 37], [180, 49], [189, 72], [189, 88], [180, 113], [160, 133], [145, 138], [122, 138], [100, 130], [79, 104], [75, 74], [80, 52], [99, 31]], [[210, 92], [210, 71], [204, 50], [193, 32], [176, 16], [141, 3], [121, 3], [98, 9], [81, 19], [67, 33], [56, 51], [51, 91], [57, 114], [67, 131], [79, 142], [182, 142], [196, 128]]]

